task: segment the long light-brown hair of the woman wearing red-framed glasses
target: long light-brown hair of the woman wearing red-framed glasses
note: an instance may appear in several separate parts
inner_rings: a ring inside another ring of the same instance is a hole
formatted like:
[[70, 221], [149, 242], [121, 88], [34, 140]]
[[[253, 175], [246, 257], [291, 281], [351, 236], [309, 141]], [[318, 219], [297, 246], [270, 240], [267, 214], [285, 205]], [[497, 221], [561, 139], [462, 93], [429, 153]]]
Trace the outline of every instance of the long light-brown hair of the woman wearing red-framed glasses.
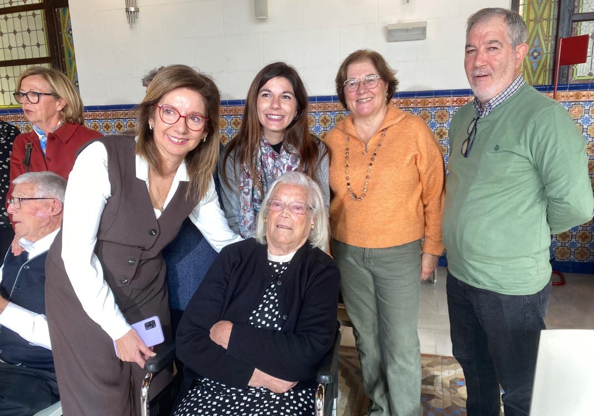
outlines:
[[135, 152], [147, 160], [151, 169], [163, 174], [162, 160], [154, 144], [149, 119], [159, 116], [158, 109], [153, 104], [157, 104], [165, 94], [178, 88], [187, 88], [200, 94], [206, 107], [204, 116], [208, 118], [204, 126], [204, 132], [207, 133], [206, 142], [200, 142], [185, 156], [189, 175], [186, 198], [198, 202], [208, 190], [219, 157], [220, 93], [208, 75], [197, 73], [186, 65], [169, 65], [155, 75], [143, 102], [137, 108], [138, 141]]

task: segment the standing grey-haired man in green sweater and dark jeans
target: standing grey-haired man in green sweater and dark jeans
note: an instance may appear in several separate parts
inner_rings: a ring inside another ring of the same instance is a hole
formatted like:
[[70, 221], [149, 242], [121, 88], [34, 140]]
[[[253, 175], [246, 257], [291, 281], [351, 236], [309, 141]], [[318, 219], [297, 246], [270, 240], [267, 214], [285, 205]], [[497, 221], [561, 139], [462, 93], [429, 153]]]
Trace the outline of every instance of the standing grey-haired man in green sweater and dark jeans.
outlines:
[[586, 140], [559, 103], [524, 83], [516, 12], [468, 19], [465, 70], [476, 97], [450, 125], [443, 239], [454, 357], [469, 416], [527, 415], [550, 292], [551, 234], [589, 221]]

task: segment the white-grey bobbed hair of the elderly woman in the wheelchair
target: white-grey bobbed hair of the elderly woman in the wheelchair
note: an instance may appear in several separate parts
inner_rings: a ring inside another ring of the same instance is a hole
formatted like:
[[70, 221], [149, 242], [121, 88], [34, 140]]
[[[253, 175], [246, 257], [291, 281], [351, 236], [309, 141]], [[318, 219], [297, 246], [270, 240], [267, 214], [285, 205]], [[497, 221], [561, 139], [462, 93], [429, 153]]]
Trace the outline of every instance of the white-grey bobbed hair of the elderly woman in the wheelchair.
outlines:
[[309, 232], [308, 240], [312, 247], [320, 248], [320, 250], [328, 250], [328, 239], [330, 238], [330, 229], [328, 228], [328, 216], [326, 215], [326, 209], [324, 208], [324, 198], [322, 197], [322, 191], [320, 185], [318, 185], [314, 179], [311, 179], [307, 175], [301, 172], [287, 172], [281, 175], [271, 185], [270, 189], [266, 193], [260, 213], [256, 219], [256, 232], [254, 237], [260, 244], [266, 244], [264, 237], [266, 237], [266, 224], [264, 219], [268, 217], [268, 198], [274, 193], [276, 187], [287, 184], [297, 185], [304, 188], [307, 194], [307, 204], [311, 208], [308, 210], [306, 215], [309, 218], [315, 218], [314, 229]]

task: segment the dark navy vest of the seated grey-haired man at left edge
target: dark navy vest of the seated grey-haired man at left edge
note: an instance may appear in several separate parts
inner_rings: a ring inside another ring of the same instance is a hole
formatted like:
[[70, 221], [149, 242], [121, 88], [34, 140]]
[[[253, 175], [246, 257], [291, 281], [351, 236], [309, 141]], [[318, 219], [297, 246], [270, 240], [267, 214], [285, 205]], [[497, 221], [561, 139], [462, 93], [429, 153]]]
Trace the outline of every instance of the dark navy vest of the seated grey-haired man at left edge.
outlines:
[[[15, 305], [34, 313], [45, 314], [45, 259], [48, 252], [27, 260], [28, 253], [12, 256], [9, 252], [4, 260], [0, 291]], [[22, 364], [25, 367], [55, 371], [52, 351], [33, 345], [18, 333], [0, 327], [0, 360], [8, 364]]]

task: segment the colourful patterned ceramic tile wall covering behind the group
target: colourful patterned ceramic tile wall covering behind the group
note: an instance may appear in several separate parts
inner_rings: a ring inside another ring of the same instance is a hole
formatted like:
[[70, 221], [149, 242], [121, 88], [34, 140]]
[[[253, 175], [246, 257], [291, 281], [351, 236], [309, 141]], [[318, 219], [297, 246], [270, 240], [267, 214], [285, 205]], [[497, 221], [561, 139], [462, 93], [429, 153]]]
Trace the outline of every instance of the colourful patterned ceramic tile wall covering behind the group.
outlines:
[[[590, 91], [592, 88], [592, 91]], [[552, 96], [552, 87], [538, 89]], [[594, 84], [560, 86], [558, 100], [567, 108], [576, 124], [587, 138], [590, 178], [594, 184]], [[457, 109], [472, 99], [470, 90], [445, 90], [397, 93], [392, 102], [404, 111], [424, 119], [435, 133], [447, 166], [448, 128]], [[220, 133], [227, 143], [239, 131], [243, 114], [242, 100], [222, 103]], [[346, 115], [336, 96], [311, 97], [309, 103], [309, 127], [322, 139], [328, 131]], [[31, 125], [20, 109], [0, 111], [0, 116], [17, 125], [21, 131], [30, 131]], [[134, 107], [93, 106], [86, 108], [87, 127], [103, 134], [116, 134], [135, 127]], [[553, 237], [555, 269], [564, 272], [594, 273], [594, 225], [592, 222], [577, 226], [568, 232]]]

